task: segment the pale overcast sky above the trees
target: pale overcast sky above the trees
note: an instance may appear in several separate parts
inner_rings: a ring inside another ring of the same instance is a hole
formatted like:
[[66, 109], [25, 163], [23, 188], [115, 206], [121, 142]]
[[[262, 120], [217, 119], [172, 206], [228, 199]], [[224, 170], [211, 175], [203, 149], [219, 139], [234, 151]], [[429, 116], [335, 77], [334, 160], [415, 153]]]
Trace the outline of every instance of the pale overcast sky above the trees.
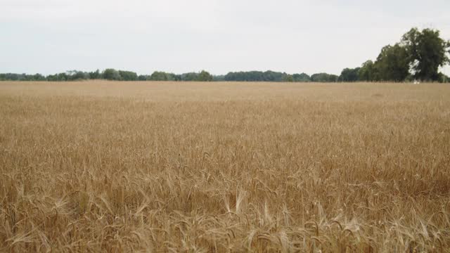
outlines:
[[411, 27], [450, 39], [449, 11], [449, 0], [0, 0], [0, 72], [339, 74]]

